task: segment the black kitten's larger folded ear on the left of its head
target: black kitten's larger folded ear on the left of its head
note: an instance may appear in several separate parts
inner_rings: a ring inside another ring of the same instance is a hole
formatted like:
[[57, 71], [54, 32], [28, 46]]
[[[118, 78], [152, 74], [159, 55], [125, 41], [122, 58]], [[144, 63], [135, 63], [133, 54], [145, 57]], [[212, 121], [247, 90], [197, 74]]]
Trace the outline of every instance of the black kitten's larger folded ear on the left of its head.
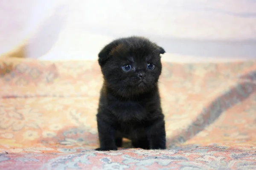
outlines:
[[108, 60], [108, 58], [110, 57], [110, 53], [112, 51], [112, 49], [114, 47], [116, 47], [118, 44], [116, 42], [111, 42], [109, 43], [108, 45], [106, 45], [102, 51], [99, 52], [98, 54], [98, 62], [99, 62], [99, 65], [102, 66], [105, 64], [105, 62]]

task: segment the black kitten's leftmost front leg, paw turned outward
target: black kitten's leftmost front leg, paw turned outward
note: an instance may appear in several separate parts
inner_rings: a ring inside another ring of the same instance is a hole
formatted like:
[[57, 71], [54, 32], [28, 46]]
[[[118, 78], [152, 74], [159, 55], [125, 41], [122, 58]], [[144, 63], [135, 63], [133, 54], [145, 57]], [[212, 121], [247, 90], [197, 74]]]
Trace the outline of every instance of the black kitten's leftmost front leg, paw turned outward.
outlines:
[[116, 130], [100, 116], [97, 116], [100, 147], [96, 150], [117, 150], [115, 143]]

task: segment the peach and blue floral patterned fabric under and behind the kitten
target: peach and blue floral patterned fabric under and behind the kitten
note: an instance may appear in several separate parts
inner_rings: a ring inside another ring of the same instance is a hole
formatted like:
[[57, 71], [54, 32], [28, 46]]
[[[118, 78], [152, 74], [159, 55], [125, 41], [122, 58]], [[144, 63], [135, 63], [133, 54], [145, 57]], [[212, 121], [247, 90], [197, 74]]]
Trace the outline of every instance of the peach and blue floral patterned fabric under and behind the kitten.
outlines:
[[93, 151], [96, 61], [0, 60], [0, 169], [256, 169], [256, 62], [163, 63], [167, 150]]

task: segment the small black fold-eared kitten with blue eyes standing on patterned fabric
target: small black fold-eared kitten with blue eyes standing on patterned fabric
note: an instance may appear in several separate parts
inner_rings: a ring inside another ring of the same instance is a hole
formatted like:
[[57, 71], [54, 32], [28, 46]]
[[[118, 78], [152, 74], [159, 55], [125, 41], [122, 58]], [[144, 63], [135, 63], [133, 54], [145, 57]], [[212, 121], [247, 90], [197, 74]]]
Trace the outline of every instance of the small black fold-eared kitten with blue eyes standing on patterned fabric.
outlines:
[[100, 147], [117, 150], [122, 138], [134, 147], [165, 149], [165, 122], [158, 79], [163, 48], [143, 37], [114, 40], [99, 53], [104, 84], [97, 114]]

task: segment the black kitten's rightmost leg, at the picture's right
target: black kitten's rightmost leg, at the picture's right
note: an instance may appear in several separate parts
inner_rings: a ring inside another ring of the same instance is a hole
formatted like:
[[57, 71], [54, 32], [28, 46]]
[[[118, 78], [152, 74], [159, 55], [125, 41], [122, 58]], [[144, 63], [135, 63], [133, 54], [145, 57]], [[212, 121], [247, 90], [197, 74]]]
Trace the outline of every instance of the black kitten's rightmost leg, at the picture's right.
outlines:
[[153, 122], [153, 125], [147, 129], [147, 135], [150, 149], [166, 149], [166, 131], [163, 119]]

